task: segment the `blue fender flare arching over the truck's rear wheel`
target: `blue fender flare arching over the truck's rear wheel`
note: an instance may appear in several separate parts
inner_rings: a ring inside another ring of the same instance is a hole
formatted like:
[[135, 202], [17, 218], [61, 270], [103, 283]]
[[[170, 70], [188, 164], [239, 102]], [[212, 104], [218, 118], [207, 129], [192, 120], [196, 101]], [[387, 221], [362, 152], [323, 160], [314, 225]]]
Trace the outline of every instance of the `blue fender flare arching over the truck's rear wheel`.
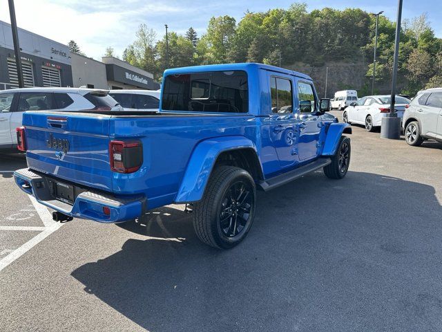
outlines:
[[187, 163], [175, 203], [200, 201], [218, 156], [236, 149], [253, 149], [258, 156], [255, 144], [244, 136], [222, 136], [199, 142]]

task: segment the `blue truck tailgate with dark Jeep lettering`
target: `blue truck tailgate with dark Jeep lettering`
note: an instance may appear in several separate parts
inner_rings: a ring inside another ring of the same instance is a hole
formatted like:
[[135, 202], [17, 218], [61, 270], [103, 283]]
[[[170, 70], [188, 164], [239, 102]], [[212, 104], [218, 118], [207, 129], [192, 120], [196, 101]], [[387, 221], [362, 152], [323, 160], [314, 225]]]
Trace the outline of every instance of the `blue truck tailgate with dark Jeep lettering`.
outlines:
[[23, 114], [28, 166], [79, 185], [111, 192], [110, 117], [76, 114]]

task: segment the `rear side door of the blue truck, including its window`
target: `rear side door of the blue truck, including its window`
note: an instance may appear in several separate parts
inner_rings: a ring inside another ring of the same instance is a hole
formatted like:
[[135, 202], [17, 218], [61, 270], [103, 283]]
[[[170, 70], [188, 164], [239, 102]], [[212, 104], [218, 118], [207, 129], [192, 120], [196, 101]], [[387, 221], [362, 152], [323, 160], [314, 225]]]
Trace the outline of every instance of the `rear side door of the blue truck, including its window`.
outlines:
[[269, 74], [271, 113], [269, 136], [276, 149], [280, 167], [290, 167], [297, 161], [297, 135], [293, 110], [293, 84], [291, 77]]

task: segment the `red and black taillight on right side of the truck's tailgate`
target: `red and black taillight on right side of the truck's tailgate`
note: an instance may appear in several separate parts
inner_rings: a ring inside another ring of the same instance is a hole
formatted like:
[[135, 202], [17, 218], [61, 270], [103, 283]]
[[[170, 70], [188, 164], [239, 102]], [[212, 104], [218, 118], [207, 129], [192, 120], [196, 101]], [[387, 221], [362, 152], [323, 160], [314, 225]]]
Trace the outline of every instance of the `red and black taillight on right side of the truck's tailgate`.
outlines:
[[111, 169], [119, 173], [133, 173], [140, 169], [143, 163], [141, 142], [111, 140], [109, 143], [109, 158]]

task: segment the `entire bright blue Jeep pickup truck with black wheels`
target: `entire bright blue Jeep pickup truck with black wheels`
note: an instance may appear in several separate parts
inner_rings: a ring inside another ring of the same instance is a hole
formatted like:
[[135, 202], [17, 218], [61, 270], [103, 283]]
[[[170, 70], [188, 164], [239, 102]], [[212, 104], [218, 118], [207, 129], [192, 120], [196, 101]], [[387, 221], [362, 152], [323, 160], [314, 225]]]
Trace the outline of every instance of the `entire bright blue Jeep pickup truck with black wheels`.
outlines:
[[164, 72], [160, 111], [28, 111], [17, 129], [28, 168], [15, 181], [56, 221], [140, 219], [187, 203], [199, 239], [247, 236], [256, 190], [324, 169], [343, 178], [351, 133], [311, 78], [263, 64]]

